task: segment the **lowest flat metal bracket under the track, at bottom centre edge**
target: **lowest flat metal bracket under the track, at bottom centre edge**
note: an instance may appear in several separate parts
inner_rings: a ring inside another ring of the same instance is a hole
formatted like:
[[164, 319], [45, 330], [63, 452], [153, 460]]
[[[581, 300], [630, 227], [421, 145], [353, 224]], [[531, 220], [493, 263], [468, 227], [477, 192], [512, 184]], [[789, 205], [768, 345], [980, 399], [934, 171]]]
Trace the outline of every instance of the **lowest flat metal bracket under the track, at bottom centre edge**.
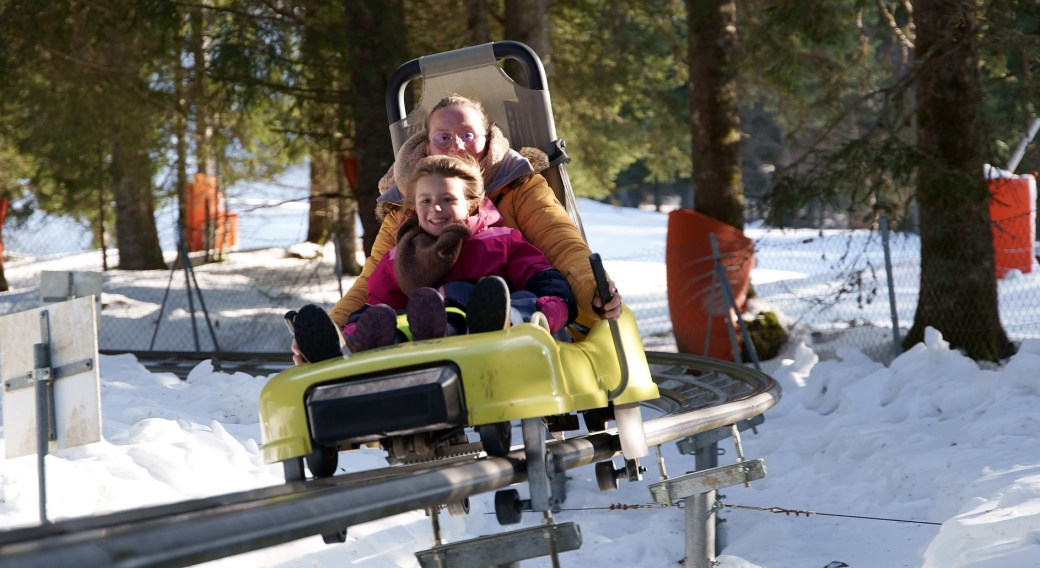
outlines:
[[483, 568], [548, 557], [551, 548], [560, 553], [580, 547], [581, 530], [573, 522], [565, 522], [442, 544], [420, 550], [415, 557], [422, 568]]

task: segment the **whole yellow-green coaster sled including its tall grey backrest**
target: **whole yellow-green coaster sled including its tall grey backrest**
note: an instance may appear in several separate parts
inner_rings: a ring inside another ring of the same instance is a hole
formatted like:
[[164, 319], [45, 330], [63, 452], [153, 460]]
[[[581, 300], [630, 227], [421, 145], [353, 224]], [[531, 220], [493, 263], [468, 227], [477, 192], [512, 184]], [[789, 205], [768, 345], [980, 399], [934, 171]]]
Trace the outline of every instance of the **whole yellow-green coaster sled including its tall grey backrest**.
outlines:
[[[522, 63], [529, 88], [502, 72], [498, 60], [505, 57]], [[420, 76], [419, 104], [406, 114], [406, 87]], [[512, 147], [546, 152], [550, 165], [542, 175], [581, 230], [564, 170], [568, 158], [563, 140], [556, 138], [545, 85], [541, 60], [516, 42], [409, 61], [391, 77], [387, 89], [394, 152], [422, 127], [431, 107], [443, 97], [458, 94], [478, 100]], [[603, 288], [605, 277], [600, 272], [598, 278]], [[546, 329], [522, 324], [500, 332], [400, 343], [282, 371], [260, 396], [264, 461], [283, 462], [286, 480], [293, 481], [303, 477], [304, 461], [315, 476], [332, 475], [340, 449], [373, 442], [387, 450], [391, 464], [482, 448], [504, 456], [511, 449], [511, 422], [520, 420], [532, 489], [531, 502], [523, 507], [547, 510], [551, 497], [545, 475], [530, 473], [536, 466], [551, 464], [545, 450], [546, 427], [578, 430], [577, 413], [582, 413], [589, 431], [595, 432], [613, 418], [625, 458], [634, 461], [647, 455], [639, 403], [658, 396], [627, 308], [618, 321], [598, 321], [578, 335], [575, 342], [556, 341]], [[479, 442], [469, 440], [467, 427], [476, 430]], [[551, 465], [548, 469], [551, 476]]]

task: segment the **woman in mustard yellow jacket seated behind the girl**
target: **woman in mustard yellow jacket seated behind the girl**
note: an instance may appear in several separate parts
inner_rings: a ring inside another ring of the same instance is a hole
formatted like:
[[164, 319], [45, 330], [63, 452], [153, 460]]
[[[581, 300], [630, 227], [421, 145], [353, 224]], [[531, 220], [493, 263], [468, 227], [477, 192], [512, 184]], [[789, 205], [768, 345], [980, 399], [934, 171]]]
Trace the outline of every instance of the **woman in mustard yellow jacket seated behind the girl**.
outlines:
[[[409, 180], [416, 162], [425, 156], [462, 153], [479, 161], [487, 196], [502, 215], [502, 225], [523, 233], [567, 279], [578, 303], [578, 321], [589, 326], [601, 317], [617, 319], [621, 315], [621, 295], [614, 281], [608, 282], [614, 296], [606, 306], [595, 292], [596, 281], [589, 264], [592, 252], [539, 174], [548, 166], [542, 151], [510, 149], [509, 139], [489, 123], [480, 103], [465, 97], [441, 100], [424, 126], [405, 141], [393, 166], [380, 181], [378, 213], [383, 225], [361, 276], [329, 314], [336, 328], [342, 329], [346, 318], [365, 304], [369, 276], [383, 255], [396, 244], [397, 228], [407, 214], [401, 210], [402, 197], [397, 184]], [[300, 363], [295, 341], [292, 351]]]

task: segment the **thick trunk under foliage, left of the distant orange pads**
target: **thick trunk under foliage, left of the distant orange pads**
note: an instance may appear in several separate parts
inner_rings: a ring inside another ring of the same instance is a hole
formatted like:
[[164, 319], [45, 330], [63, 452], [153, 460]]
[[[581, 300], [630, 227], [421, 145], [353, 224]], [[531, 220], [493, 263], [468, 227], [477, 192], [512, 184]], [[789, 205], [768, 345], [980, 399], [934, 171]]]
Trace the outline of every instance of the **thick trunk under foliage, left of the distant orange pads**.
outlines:
[[148, 151], [116, 141], [112, 148], [112, 198], [115, 201], [115, 241], [119, 267], [124, 270], [164, 269]]

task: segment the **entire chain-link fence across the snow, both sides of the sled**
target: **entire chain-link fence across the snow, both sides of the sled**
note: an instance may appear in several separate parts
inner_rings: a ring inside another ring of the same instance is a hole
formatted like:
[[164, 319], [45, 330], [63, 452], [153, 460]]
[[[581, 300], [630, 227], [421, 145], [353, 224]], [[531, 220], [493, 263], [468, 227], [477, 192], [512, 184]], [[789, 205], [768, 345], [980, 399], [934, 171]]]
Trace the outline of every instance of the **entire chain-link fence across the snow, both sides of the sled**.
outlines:
[[[306, 215], [304, 222], [300, 217], [298, 213], [291, 220], [261, 215], [253, 223], [243, 216], [243, 229], [256, 228], [252, 240], [269, 248], [197, 265], [193, 275], [183, 268], [105, 272], [100, 347], [194, 351], [198, 337], [202, 351], [218, 346], [228, 352], [287, 352], [289, 336], [282, 314], [307, 303], [330, 309], [341, 289], [353, 282], [349, 278], [337, 281], [331, 242], [324, 247], [290, 244], [302, 240], [306, 229]], [[264, 230], [276, 223], [296, 224], [300, 234], [294, 236], [284, 228]], [[89, 231], [75, 228], [72, 221], [51, 217], [37, 226], [4, 229], [4, 267], [11, 291], [0, 294], [0, 315], [41, 305], [42, 270], [101, 270], [101, 252], [92, 249]], [[822, 358], [833, 357], [838, 347], [849, 345], [876, 360], [891, 360], [895, 353], [893, 307], [901, 337], [911, 327], [917, 307], [920, 238], [916, 234], [889, 236], [891, 291], [880, 230], [752, 228], [746, 235], [755, 247], [751, 301], [755, 311], [777, 313], [792, 342], [804, 341]], [[598, 251], [651, 348], [672, 344], [661, 240], [659, 248], [636, 253]], [[710, 250], [707, 243], [704, 248]], [[1028, 249], [1009, 253], [1020, 265], [997, 281], [1000, 319], [1012, 340], [1040, 337], [1040, 270], [1033, 269], [1033, 253]], [[114, 250], [108, 255], [108, 264], [115, 265]], [[167, 253], [167, 261], [173, 262], [175, 256]], [[998, 258], [998, 265], [1007, 264], [1006, 258]], [[192, 291], [198, 282], [201, 298], [196, 292], [189, 301], [187, 281]], [[960, 306], [944, 309], [962, 311], [963, 325], [978, 327], [965, 301], [959, 302]]]

